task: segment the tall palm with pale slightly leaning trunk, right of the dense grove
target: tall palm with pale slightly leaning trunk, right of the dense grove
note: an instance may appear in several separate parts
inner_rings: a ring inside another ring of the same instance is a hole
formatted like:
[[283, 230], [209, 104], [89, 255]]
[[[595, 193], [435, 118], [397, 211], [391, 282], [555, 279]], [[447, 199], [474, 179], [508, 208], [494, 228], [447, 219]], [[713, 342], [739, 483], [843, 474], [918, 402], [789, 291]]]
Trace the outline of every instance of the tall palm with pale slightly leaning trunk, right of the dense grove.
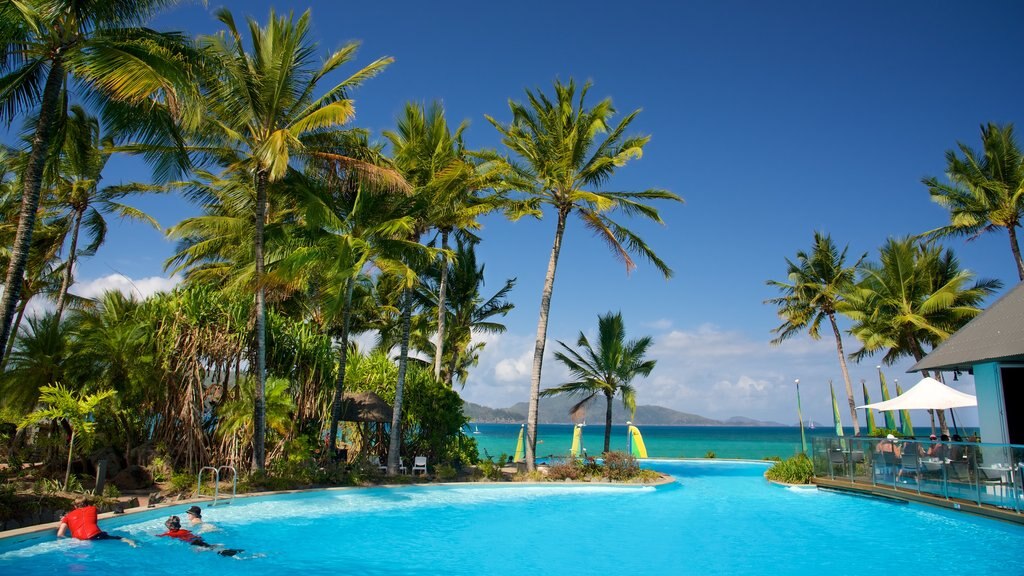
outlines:
[[548, 314], [555, 286], [555, 269], [561, 253], [562, 237], [569, 214], [575, 212], [584, 227], [605, 242], [614, 256], [626, 263], [627, 272], [636, 263], [634, 254], [650, 261], [666, 278], [672, 270], [654, 254], [647, 244], [632, 231], [612, 220], [610, 214], [620, 211], [627, 216], [642, 216], [658, 223], [662, 217], [647, 202], [670, 200], [682, 202], [675, 194], [664, 190], [642, 192], [600, 192], [616, 168], [640, 158], [649, 136], [630, 136], [625, 132], [640, 113], [636, 110], [611, 127], [615, 114], [611, 99], [605, 98], [592, 108], [584, 100], [590, 90], [584, 84], [577, 98], [575, 82], [555, 82], [555, 99], [544, 93], [526, 90], [528, 105], [509, 101], [512, 121], [487, 121], [502, 134], [502, 142], [522, 161], [505, 161], [509, 188], [525, 193], [536, 205], [548, 205], [555, 211], [555, 238], [548, 260], [548, 272], [541, 293], [541, 314], [534, 346], [534, 369], [530, 376], [529, 410], [526, 420], [526, 466], [536, 468], [537, 411], [541, 392], [541, 369], [548, 335]]

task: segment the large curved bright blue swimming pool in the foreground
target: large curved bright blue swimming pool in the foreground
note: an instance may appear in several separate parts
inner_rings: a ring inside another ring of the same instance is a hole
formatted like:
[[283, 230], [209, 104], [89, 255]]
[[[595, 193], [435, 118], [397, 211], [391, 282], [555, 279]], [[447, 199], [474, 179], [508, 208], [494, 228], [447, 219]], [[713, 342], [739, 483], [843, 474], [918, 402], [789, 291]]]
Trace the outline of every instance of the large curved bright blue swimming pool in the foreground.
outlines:
[[1024, 573], [1024, 528], [767, 484], [764, 464], [655, 460], [680, 484], [366, 488], [206, 508], [221, 558], [154, 535], [170, 508], [105, 521], [141, 546], [0, 543], [4, 574]]

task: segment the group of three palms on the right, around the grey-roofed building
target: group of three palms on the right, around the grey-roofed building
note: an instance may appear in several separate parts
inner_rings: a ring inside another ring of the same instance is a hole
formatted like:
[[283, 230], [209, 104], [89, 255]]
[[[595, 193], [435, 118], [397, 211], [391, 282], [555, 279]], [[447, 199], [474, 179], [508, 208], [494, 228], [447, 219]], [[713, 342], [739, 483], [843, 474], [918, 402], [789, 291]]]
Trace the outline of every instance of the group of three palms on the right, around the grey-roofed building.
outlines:
[[[982, 126], [981, 140], [982, 152], [961, 143], [959, 154], [946, 153], [948, 183], [936, 177], [923, 180], [932, 199], [949, 210], [949, 224], [919, 236], [890, 238], [879, 249], [878, 261], [866, 261], [864, 254], [852, 263], [846, 248], [839, 250], [828, 235], [816, 232], [810, 252], [800, 251], [796, 261], [786, 260], [786, 280], [768, 281], [781, 292], [766, 300], [782, 320], [773, 330], [777, 334], [773, 344], [804, 330], [818, 339], [821, 322], [828, 320], [855, 434], [860, 434], [860, 426], [847, 358], [859, 362], [881, 353], [887, 365], [903, 358], [921, 360], [980, 314], [985, 299], [1002, 286], [962, 269], [952, 250], [939, 246], [938, 239], [974, 239], [1005, 229], [1024, 281], [1017, 241], [1024, 217], [1024, 156], [1013, 125]], [[844, 351], [837, 315], [850, 320], [848, 333], [861, 344], [850, 355]], [[942, 433], [948, 434], [944, 413], [939, 411], [938, 416]]]

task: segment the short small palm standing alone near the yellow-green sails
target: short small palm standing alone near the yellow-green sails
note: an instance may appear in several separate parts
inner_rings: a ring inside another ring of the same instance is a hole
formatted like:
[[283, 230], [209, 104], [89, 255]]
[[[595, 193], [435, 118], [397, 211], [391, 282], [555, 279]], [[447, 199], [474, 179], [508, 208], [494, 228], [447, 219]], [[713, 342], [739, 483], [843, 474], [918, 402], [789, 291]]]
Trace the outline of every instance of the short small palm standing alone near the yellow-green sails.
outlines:
[[559, 341], [562, 352], [555, 353], [555, 359], [569, 369], [574, 378], [553, 388], [547, 388], [542, 396], [567, 394], [583, 397], [571, 409], [571, 414], [586, 410], [587, 405], [597, 395], [603, 394], [607, 400], [604, 411], [604, 452], [611, 449], [611, 406], [617, 395], [623, 406], [636, 415], [636, 388], [631, 383], [637, 376], [648, 376], [657, 361], [645, 357], [652, 340], [644, 336], [636, 340], [626, 340], [626, 325], [622, 313], [597, 317], [597, 349], [587, 336], [580, 332], [577, 352]]

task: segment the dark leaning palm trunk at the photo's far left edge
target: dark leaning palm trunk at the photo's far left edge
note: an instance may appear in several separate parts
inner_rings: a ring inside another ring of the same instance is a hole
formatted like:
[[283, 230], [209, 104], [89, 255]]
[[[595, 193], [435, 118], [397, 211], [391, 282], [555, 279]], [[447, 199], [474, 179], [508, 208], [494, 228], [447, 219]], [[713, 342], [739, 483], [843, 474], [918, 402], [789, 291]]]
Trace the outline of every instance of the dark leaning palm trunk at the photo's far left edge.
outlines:
[[0, 297], [0, 315], [2, 315], [0, 349], [7, 347], [7, 339], [11, 337], [10, 327], [14, 321], [14, 307], [22, 293], [25, 266], [29, 261], [32, 233], [36, 228], [36, 212], [39, 210], [39, 194], [43, 187], [43, 168], [46, 166], [46, 158], [52, 143], [50, 140], [53, 139], [57, 124], [63, 80], [63, 61], [57, 56], [53, 58], [46, 77], [39, 118], [36, 121], [36, 133], [32, 138], [32, 152], [29, 153], [29, 162], [25, 168], [22, 211], [17, 218], [17, 232], [14, 234], [14, 244], [11, 247], [10, 263], [7, 265], [3, 296]]

